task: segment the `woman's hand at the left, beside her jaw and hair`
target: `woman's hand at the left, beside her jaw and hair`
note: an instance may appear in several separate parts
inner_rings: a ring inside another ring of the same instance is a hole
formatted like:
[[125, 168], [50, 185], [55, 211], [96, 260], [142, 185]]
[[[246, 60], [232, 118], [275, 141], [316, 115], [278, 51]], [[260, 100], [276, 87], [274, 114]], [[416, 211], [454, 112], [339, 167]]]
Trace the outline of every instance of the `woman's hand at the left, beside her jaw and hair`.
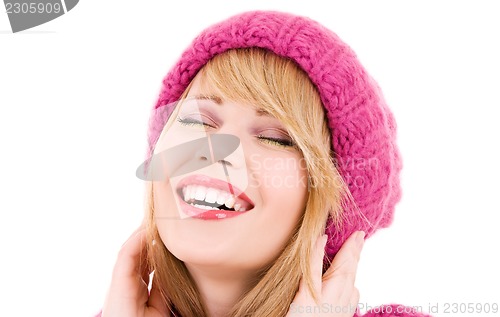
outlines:
[[102, 317], [169, 316], [153, 283], [148, 294], [149, 270], [145, 262], [146, 229], [141, 225], [118, 253]]

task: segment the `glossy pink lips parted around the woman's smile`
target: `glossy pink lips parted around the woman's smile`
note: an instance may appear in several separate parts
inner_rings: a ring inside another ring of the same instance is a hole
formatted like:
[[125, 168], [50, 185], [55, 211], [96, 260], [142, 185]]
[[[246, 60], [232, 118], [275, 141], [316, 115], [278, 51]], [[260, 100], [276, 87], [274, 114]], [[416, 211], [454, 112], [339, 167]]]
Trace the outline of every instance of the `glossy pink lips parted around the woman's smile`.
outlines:
[[[187, 185], [199, 185], [207, 188], [214, 188], [229, 192], [235, 197], [237, 203], [240, 203], [247, 207], [246, 211], [234, 211], [234, 210], [223, 210], [223, 209], [207, 210], [207, 209], [197, 208], [185, 202], [182, 197], [182, 188], [184, 188]], [[252, 202], [252, 200], [241, 189], [228, 182], [215, 179], [206, 175], [192, 175], [183, 178], [179, 182], [179, 184], [177, 184], [177, 193], [179, 195], [180, 207], [182, 208], [182, 211], [190, 217], [203, 220], [222, 220], [226, 218], [236, 217], [238, 215], [246, 213], [247, 211], [251, 210], [254, 207], [254, 203]]]

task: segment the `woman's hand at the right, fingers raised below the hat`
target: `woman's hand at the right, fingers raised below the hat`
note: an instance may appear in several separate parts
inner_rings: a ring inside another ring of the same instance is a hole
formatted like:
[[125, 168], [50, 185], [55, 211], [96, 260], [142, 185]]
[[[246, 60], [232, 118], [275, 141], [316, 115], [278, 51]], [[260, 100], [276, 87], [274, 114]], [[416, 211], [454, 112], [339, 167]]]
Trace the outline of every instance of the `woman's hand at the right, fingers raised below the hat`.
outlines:
[[326, 235], [318, 238], [311, 258], [313, 287], [319, 295], [316, 303], [304, 281], [301, 280], [287, 317], [324, 316], [352, 317], [359, 302], [359, 292], [354, 286], [359, 256], [365, 233], [354, 232], [335, 255], [330, 268], [322, 275]]

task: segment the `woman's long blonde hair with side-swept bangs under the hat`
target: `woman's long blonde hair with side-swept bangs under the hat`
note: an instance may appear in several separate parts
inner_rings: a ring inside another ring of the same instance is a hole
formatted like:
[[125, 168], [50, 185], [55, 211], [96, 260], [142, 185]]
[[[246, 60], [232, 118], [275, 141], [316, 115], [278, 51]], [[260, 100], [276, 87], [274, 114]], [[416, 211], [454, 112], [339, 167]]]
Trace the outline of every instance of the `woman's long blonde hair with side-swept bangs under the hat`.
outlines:
[[[310, 258], [328, 217], [340, 225], [343, 202], [350, 197], [334, 163], [330, 130], [319, 93], [307, 74], [290, 59], [259, 48], [233, 49], [211, 59], [197, 74], [225, 100], [253, 104], [279, 119], [300, 150], [309, 175], [305, 211], [281, 255], [259, 272], [253, 288], [228, 314], [285, 316], [301, 278], [312, 289]], [[187, 95], [191, 85], [184, 92]], [[170, 119], [175, 118], [176, 113]], [[169, 122], [171, 121], [169, 119]], [[167, 122], [166, 128], [169, 126]], [[166, 304], [180, 316], [207, 316], [206, 307], [184, 263], [162, 243], [155, 222], [153, 183], [146, 191], [147, 257]], [[153, 243], [153, 240], [155, 243]], [[314, 294], [317, 299], [318, 294]]]

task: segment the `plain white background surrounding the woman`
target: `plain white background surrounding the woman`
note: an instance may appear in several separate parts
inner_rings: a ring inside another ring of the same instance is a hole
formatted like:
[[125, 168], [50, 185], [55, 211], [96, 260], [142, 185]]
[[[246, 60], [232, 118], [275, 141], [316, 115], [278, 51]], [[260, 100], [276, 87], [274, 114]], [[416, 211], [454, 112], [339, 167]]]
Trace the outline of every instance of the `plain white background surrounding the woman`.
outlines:
[[[0, 12], [0, 316], [90, 316], [143, 214], [135, 177], [163, 76], [208, 25], [309, 16], [377, 79], [398, 123], [403, 198], [365, 244], [361, 303], [499, 303], [495, 1], [81, 1], [18, 34]], [[328, 3], [328, 4], [327, 4]]]

